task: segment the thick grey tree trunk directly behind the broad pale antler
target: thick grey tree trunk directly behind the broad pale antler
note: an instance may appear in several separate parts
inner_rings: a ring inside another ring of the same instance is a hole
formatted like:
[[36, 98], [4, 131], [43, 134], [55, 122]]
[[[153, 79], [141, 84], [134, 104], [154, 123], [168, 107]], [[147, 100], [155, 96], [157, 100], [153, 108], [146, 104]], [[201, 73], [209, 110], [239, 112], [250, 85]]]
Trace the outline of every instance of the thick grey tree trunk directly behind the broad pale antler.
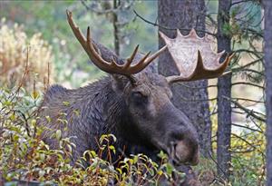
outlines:
[[[158, 2], [159, 24], [162, 27], [180, 28], [182, 34], [189, 31], [182, 29], [205, 30], [206, 6], [204, 0], [160, 0]], [[163, 29], [160, 31], [174, 38], [176, 30]], [[198, 33], [203, 36], [204, 33]], [[164, 45], [159, 38], [159, 47]], [[169, 52], [160, 54], [159, 73], [163, 75], [178, 74]], [[172, 85], [173, 103], [183, 113], [186, 113], [199, 132], [199, 143], [202, 154], [209, 157], [211, 151], [211, 122], [209, 118], [208, 92], [206, 88], [192, 89], [190, 87], [207, 87], [207, 80], [175, 83]], [[200, 101], [198, 101], [200, 100]]]

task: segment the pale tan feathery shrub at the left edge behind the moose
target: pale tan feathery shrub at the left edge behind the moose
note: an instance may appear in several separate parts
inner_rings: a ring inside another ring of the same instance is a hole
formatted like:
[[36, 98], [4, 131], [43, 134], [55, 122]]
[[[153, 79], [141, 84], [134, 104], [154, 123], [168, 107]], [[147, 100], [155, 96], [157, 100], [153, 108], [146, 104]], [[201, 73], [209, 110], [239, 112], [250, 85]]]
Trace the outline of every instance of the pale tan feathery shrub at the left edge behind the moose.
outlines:
[[23, 76], [22, 85], [28, 90], [33, 84], [42, 87], [53, 81], [52, 47], [41, 33], [27, 37], [22, 25], [9, 26], [2, 19], [0, 38], [0, 85], [13, 86]]

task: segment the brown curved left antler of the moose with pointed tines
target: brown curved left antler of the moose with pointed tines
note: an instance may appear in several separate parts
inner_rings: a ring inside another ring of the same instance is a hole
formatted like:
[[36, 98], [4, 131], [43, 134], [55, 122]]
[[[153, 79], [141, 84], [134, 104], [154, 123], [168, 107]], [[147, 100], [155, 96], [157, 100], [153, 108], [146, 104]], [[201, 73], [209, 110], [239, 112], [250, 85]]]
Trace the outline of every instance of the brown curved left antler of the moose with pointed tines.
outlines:
[[102, 71], [106, 73], [117, 73], [117, 74], [125, 75], [129, 77], [130, 79], [134, 79], [132, 78], [131, 74], [141, 72], [147, 65], [151, 64], [151, 62], [154, 59], [156, 59], [160, 55], [160, 53], [162, 53], [167, 48], [167, 46], [164, 46], [158, 52], [156, 52], [155, 54], [152, 54], [151, 56], [149, 56], [151, 54], [151, 52], [149, 52], [148, 54], [145, 54], [139, 62], [132, 65], [133, 59], [138, 52], [139, 45], [137, 45], [133, 53], [131, 54], [131, 57], [127, 59], [126, 63], [117, 64], [116, 61], [113, 59], [113, 57], [110, 62], [107, 62], [106, 60], [102, 58], [101, 54], [99, 54], [100, 53], [99, 50], [92, 44], [90, 27], [88, 26], [87, 28], [87, 39], [85, 39], [79, 27], [73, 22], [72, 12], [67, 10], [66, 14], [67, 14], [68, 23], [70, 24], [73, 30], [73, 34], [78, 39], [78, 41], [82, 44], [84, 50], [86, 51], [86, 53], [89, 55], [90, 59], [92, 60], [92, 63], [95, 64], [97, 67], [99, 67]]

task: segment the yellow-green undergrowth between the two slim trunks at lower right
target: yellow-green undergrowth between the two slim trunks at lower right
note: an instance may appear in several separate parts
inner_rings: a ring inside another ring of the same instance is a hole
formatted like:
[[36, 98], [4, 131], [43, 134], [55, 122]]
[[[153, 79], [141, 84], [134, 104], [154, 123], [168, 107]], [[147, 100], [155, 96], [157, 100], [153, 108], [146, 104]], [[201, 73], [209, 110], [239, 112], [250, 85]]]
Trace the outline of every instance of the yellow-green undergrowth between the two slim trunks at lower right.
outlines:
[[[259, 122], [260, 129], [265, 131], [265, 123]], [[232, 136], [232, 171], [234, 186], [264, 185], [266, 171], [266, 136], [260, 132], [243, 131]]]

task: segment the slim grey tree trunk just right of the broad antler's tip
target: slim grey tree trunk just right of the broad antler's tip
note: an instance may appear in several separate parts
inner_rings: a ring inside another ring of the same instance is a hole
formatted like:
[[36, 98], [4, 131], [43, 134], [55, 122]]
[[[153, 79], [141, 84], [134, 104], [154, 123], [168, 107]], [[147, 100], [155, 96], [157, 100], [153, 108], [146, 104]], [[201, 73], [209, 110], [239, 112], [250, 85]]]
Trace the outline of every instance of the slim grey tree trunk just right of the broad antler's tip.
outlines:
[[[218, 15], [218, 52], [231, 51], [231, 38], [224, 34], [223, 26], [229, 23], [229, 8], [231, 0], [219, 1]], [[226, 98], [231, 97], [231, 74], [219, 77], [218, 82], [218, 132], [217, 158], [218, 173], [228, 180], [230, 166], [230, 133], [231, 133], [231, 104]]]

